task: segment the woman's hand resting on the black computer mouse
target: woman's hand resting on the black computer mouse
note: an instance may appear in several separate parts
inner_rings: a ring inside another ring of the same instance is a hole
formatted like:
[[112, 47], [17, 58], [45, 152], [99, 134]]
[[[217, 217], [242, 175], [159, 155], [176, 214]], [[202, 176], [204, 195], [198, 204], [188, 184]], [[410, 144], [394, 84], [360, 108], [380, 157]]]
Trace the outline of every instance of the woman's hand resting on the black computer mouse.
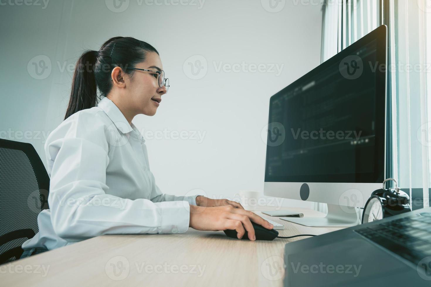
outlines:
[[237, 231], [238, 239], [242, 238], [247, 230], [248, 238], [256, 240], [254, 228], [251, 222], [272, 229], [273, 225], [251, 211], [235, 208], [231, 205], [219, 207], [190, 206], [191, 228], [197, 230], [226, 230]]

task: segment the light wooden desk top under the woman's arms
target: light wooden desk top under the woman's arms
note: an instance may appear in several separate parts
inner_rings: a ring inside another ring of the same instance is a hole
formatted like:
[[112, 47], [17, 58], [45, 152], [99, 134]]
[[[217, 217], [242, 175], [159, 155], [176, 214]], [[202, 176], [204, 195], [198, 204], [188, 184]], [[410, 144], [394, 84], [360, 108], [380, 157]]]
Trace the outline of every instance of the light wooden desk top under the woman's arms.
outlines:
[[[341, 229], [306, 227], [255, 212], [283, 224], [280, 236]], [[1, 265], [0, 280], [2, 286], [44, 287], [282, 286], [284, 244], [301, 239], [252, 242], [192, 228], [182, 234], [103, 235]]]

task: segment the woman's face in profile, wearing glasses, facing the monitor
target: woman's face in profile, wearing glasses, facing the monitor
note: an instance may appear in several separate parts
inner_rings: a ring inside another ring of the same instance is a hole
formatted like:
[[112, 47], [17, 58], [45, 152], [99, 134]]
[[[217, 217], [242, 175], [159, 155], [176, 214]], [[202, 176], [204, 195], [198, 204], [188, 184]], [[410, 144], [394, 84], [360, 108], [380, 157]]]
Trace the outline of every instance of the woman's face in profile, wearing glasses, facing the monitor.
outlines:
[[[144, 62], [138, 63], [134, 68], [151, 71], [163, 70], [162, 61], [156, 52], [147, 52]], [[125, 77], [128, 98], [128, 109], [132, 114], [145, 114], [153, 116], [161, 105], [162, 95], [166, 94], [166, 87], [159, 86], [159, 74], [134, 70], [132, 77]]]

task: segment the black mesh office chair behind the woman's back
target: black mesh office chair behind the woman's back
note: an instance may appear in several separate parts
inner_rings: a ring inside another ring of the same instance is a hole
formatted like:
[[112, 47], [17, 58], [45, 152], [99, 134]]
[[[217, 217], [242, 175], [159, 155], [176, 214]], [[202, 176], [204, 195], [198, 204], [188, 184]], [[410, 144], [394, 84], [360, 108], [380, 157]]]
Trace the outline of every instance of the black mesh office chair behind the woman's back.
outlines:
[[38, 231], [48, 209], [50, 178], [29, 143], [0, 139], [0, 264], [22, 255], [21, 245]]

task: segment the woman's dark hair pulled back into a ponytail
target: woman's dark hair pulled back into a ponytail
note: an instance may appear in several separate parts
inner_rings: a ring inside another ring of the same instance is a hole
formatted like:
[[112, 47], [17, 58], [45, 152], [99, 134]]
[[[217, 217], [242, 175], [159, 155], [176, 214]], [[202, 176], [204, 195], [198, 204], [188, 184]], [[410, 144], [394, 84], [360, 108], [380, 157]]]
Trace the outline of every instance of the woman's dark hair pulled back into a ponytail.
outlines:
[[[112, 88], [112, 69], [116, 66], [123, 69], [134, 68], [137, 63], [145, 61], [146, 52], [159, 54], [150, 44], [132, 37], [113, 37], [107, 40], [99, 51], [85, 51], [75, 65], [69, 105], [64, 119], [77, 111], [94, 107], [99, 96], [106, 96]], [[124, 70], [126, 74], [134, 74], [132, 69]]]

